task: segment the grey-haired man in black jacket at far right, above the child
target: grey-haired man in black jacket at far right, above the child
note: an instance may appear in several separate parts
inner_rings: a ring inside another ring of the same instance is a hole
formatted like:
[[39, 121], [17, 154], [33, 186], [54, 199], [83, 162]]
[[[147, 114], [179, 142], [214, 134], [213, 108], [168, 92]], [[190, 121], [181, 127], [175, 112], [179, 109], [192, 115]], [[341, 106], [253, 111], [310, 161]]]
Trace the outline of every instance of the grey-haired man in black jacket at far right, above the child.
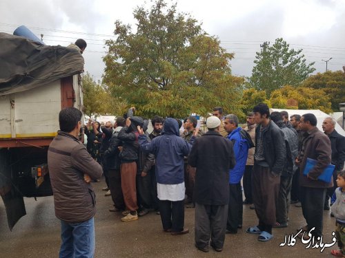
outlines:
[[329, 199], [332, 197], [335, 189], [337, 188], [337, 172], [344, 169], [345, 162], [345, 137], [341, 136], [337, 131], [335, 131], [335, 125], [337, 121], [334, 118], [328, 117], [322, 122], [322, 129], [324, 133], [331, 140], [332, 148], [332, 164], [335, 165], [333, 171], [333, 187], [328, 188], [326, 191], [326, 199], [324, 203], [324, 210], [329, 210]]

